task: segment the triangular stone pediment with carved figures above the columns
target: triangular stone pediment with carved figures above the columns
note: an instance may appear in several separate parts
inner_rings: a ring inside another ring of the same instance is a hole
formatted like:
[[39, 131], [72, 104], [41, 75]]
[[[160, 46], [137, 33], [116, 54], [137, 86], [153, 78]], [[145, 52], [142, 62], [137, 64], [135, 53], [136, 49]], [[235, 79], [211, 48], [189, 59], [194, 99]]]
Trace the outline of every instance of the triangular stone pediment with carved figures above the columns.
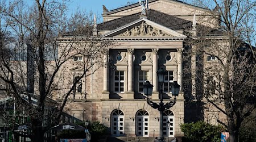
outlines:
[[179, 32], [164, 27], [151, 20], [141, 18], [125, 26], [119, 27], [113, 31], [108, 32], [102, 37], [117, 37], [117, 38], [142, 38], [142, 37], [187, 37]]

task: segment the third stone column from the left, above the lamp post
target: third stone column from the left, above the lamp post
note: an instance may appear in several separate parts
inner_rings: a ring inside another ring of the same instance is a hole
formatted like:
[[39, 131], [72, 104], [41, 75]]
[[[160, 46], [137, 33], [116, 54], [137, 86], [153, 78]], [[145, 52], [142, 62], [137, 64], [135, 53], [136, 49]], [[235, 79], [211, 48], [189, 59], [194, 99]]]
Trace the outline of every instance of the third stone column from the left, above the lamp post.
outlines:
[[152, 49], [152, 59], [153, 59], [153, 68], [152, 68], [152, 85], [153, 86], [153, 92], [158, 91], [158, 74], [156, 73], [158, 71], [158, 49], [154, 48]]

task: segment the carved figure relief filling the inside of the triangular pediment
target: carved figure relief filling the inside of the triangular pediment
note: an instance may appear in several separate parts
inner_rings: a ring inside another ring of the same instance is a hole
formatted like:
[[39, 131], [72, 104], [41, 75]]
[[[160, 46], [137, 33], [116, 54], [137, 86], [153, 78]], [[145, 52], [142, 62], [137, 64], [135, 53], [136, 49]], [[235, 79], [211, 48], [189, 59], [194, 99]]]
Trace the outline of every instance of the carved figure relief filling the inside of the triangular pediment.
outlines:
[[171, 36], [162, 30], [154, 28], [144, 21], [139, 25], [131, 28], [130, 30], [126, 29], [125, 32], [118, 36]]

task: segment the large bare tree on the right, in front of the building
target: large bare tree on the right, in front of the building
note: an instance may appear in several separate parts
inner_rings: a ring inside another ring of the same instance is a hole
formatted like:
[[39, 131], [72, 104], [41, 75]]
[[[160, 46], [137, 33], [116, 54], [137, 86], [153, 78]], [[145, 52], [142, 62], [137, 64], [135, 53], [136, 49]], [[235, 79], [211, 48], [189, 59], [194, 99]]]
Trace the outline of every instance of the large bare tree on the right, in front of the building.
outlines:
[[188, 40], [192, 48], [187, 55], [195, 62], [188, 72], [196, 70], [196, 98], [226, 116], [218, 122], [229, 131], [230, 141], [238, 141], [243, 121], [256, 107], [256, 1], [195, 3], [218, 22], [215, 28], [197, 26], [197, 36]]

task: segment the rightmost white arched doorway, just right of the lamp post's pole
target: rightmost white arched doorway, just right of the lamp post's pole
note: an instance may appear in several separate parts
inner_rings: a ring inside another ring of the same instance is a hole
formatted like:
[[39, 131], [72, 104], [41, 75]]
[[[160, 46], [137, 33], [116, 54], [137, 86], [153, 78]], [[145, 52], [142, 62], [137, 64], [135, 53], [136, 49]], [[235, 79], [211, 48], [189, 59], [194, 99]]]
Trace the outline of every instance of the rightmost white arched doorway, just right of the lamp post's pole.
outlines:
[[163, 135], [174, 137], [174, 113], [170, 110], [163, 112]]

